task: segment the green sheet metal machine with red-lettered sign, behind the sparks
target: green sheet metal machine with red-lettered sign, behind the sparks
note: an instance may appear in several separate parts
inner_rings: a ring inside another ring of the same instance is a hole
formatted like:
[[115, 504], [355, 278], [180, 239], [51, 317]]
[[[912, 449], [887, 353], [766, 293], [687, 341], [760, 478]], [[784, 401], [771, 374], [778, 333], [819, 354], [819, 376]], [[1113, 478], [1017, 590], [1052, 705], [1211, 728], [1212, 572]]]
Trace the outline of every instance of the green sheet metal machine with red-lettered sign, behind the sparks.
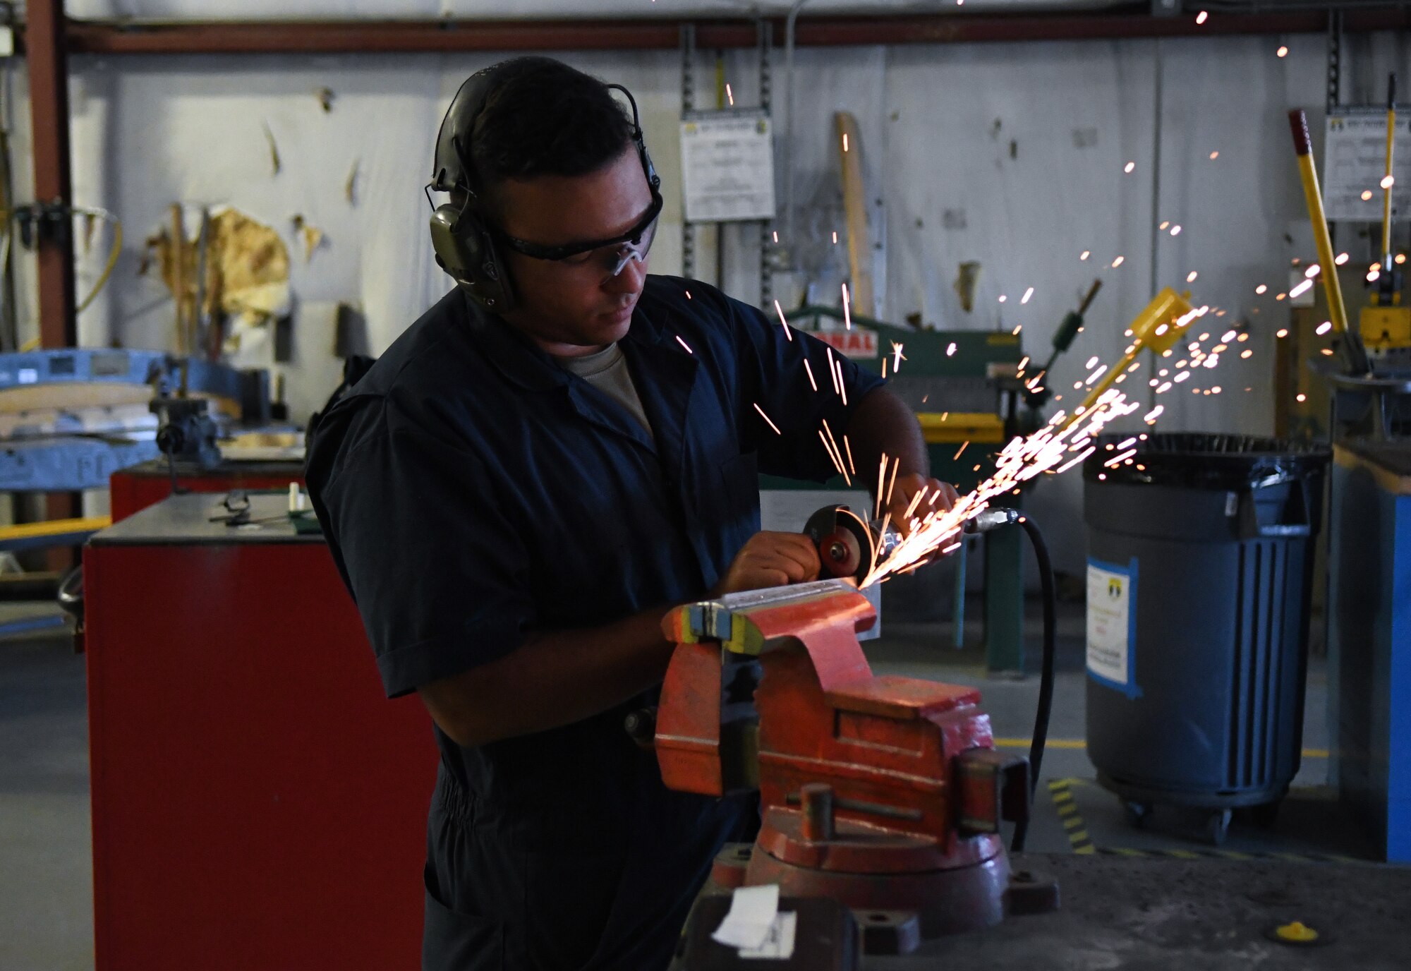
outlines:
[[[965, 493], [993, 470], [995, 454], [1016, 435], [1037, 429], [1040, 409], [1048, 401], [1041, 374], [1068, 350], [1082, 315], [1096, 295], [1095, 282], [1082, 306], [1068, 313], [1053, 340], [1053, 353], [1043, 368], [1024, 356], [1017, 333], [1007, 330], [919, 330], [851, 316], [840, 308], [806, 305], [786, 313], [794, 327], [825, 340], [835, 353], [858, 366], [883, 374], [889, 388], [916, 412], [931, 457], [931, 474]], [[851, 325], [851, 326], [849, 326]], [[900, 354], [899, 354], [900, 350]], [[900, 364], [900, 367], [897, 367]], [[1038, 377], [1038, 381], [1034, 381]], [[1029, 385], [1033, 385], [1031, 388]], [[761, 476], [759, 488], [818, 490], [776, 476]], [[847, 488], [842, 477], [827, 483], [830, 491]], [[855, 484], [855, 488], [866, 488]], [[1006, 500], [1019, 507], [1020, 495]], [[1019, 528], [993, 529], [985, 542], [985, 656], [992, 672], [1024, 669], [1024, 577], [1023, 538]], [[965, 573], [969, 543], [955, 552], [952, 591], [955, 646], [964, 646]], [[913, 577], [897, 577], [904, 586]], [[913, 597], [927, 597], [923, 584]]]

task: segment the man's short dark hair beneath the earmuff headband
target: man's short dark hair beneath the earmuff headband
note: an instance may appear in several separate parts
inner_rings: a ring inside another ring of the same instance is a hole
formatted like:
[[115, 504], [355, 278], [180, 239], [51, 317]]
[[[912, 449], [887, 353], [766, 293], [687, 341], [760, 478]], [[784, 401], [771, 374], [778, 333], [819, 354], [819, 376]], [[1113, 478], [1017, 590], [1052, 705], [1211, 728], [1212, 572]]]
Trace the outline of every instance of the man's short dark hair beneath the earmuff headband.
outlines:
[[549, 58], [507, 65], [471, 131], [471, 162], [495, 207], [497, 186], [539, 175], [588, 175], [632, 141], [632, 120], [608, 86]]

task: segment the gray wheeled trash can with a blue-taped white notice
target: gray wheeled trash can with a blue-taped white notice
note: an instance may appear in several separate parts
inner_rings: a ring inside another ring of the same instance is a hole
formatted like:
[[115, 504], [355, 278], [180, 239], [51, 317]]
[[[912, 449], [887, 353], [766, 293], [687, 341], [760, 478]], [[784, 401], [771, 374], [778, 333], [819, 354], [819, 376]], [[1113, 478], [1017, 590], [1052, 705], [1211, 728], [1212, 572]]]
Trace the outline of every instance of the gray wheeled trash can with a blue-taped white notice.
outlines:
[[1084, 466], [1088, 756], [1129, 820], [1198, 807], [1218, 844], [1236, 807], [1271, 823], [1298, 772], [1328, 452], [1130, 438]]

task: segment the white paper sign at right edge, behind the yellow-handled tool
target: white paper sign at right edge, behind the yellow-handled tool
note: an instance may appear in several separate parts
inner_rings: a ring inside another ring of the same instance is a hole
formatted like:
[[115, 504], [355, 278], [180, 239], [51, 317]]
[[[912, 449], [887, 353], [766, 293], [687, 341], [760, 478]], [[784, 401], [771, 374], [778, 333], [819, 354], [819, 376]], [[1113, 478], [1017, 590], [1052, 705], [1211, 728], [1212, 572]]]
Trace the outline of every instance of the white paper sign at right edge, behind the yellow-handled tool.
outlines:
[[[1391, 219], [1411, 212], [1411, 117], [1397, 114], [1395, 151], [1391, 155], [1395, 185]], [[1345, 109], [1328, 116], [1324, 143], [1324, 209], [1329, 220], [1381, 222], [1387, 176], [1387, 109]], [[1370, 195], [1363, 199], [1362, 196]]]

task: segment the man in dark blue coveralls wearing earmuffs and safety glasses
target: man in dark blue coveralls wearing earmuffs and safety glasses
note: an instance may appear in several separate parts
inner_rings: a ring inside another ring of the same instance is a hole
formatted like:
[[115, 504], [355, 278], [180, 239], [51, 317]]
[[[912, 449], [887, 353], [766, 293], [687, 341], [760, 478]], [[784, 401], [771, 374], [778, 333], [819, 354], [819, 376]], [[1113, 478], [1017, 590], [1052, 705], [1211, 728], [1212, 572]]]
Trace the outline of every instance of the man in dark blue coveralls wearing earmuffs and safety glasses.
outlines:
[[[759, 532], [761, 471], [900, 459], [900, 521], [948, 508], [910, 411], [752, 306], [646, 275], [662, 207], [641, 128], [547, 58], [466, 82], [432, 234], [459, 285], [319, 422], [308, 481], [388, 696], [442, 751], [428, 971], [663, 968], [753, 799], [669, 792], [624, 730], [653, 703], [673, 605], [816, 579]], [[813, 380], [804, 368], [810, 363]], [[817, 390], [814, 390], [814, 382]]]

